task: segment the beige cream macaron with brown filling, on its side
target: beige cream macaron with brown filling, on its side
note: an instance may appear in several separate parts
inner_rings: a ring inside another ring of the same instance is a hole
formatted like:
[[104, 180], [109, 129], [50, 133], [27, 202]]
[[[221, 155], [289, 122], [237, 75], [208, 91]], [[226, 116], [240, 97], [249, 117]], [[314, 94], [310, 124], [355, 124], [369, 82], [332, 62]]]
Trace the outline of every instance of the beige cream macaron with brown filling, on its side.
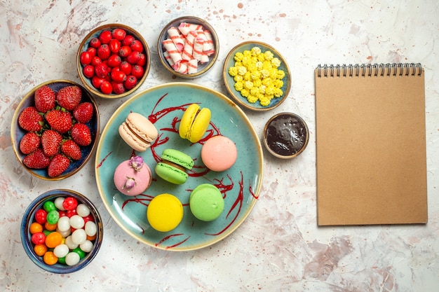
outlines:
[[129, 113], [119, 126], [119, 134], [126, 144], [139, 152], [146, 151], [158, 137], [154, 124], [140, 113]]

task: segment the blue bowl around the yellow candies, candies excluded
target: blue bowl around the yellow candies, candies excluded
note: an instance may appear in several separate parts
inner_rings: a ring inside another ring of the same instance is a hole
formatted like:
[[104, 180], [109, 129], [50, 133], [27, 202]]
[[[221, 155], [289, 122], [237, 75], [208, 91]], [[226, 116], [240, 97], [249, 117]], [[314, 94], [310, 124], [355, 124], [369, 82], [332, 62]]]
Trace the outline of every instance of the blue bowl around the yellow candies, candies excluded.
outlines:
[[[268, 106], [262, 106], [259, 101], [255, 103], [248, 102], [247, 98], [243, 97], [241, 93], [234, 88], [234, 77], [229, 75], [229, 68], [234, 67], [235, 64], [235, 54], [238, 52], [243, 53], [244, 50], [251, 50], [254, 47], [259, 47], [262, 53], [270, 50], [271, 53], [273, 53], [273, 57], [277, 57], [279, 60], [281, 60], [281, 66], [279, 66], [278, 69], [285, 72], [285, 76], [283, 77], [283, 87], [281, 88], [283, 91], [283, 95], [281, 97], [271, 99], [271, 102]], [[243, 106], [245, 109], [251, 109], [252, 111], [268, 111], [270, 109], [276, 108], [276, 106], [281, 105], [282, 102], [285, 101], [291, 88], [290, 69], [288, 68], [287, 62], [282, 57], [281, 53], [279, 53], [275, 48], [260, 41], [245, 41], [238, 44], [238, 46], [236, 46], [235, 48], [231, 49], [226, 57], [226, 60], [224, 61], [222, 76], [224, 78], [224, 83], [226, 85], [227, 91], [229, 92], [229, 95], [233, 97], [237, 104]]]

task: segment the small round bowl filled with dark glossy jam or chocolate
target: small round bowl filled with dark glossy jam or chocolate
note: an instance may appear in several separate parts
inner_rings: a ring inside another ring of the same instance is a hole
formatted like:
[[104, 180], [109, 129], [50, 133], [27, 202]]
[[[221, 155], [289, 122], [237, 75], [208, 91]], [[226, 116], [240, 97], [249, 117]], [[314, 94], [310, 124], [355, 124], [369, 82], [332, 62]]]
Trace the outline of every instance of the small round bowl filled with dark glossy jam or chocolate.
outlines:
[[309, 140], [305, 121], [295, 113], [277, 113], [264, 126], [266, 150], [277, 158], [295, 158], [302, 153]]

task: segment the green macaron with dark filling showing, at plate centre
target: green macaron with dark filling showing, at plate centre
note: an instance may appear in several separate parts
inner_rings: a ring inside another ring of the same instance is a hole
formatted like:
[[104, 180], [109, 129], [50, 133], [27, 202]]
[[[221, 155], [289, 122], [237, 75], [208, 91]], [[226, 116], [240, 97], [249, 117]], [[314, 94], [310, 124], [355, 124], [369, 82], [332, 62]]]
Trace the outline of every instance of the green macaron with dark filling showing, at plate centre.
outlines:
[[189, 155], [169, 148], [161, 153], [160, 158], [155, 169], [158, 176], [177, 185], [187, 181], [187, 170], [194, 167], [194, 160]]

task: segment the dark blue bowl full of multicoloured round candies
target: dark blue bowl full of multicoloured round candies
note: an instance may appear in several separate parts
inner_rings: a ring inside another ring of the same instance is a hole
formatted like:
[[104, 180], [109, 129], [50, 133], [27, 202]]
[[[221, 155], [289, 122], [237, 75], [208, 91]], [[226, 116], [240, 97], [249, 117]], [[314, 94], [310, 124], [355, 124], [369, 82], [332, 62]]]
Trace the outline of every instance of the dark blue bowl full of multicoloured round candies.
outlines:
[[29, 204], [21, 222], [27, 256], [56, 274], [86, 267], [102, 244], [103, 227], [93, 203], [74, 190], [49, 190]]

